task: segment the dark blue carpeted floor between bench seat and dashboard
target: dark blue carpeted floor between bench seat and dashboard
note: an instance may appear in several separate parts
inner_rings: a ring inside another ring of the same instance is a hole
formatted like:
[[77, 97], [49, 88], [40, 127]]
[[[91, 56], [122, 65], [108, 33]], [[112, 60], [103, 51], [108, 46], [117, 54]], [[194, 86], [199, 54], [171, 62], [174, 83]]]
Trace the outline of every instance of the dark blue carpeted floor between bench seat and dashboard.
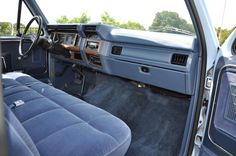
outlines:
[[129, 81], [102, 74], [93, 80], [87, 86], [84, 100], [127, 123], [132, 131], [127, 156], [177, 155], [188, 98], [153, 93], [148, 88], [138, 88]]

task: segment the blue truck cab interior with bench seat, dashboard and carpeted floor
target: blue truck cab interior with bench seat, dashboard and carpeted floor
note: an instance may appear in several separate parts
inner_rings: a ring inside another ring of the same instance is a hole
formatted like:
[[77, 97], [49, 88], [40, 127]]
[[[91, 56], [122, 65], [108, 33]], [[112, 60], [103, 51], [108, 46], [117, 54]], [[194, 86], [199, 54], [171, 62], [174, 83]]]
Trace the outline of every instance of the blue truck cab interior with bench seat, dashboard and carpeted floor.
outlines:
[[[183, 150], [201, 72], [197, 35], [48, 24], [35, 2], [23, 3], [32, 20], [21, 36], [0, 37], [6, 125], [13, 131], [9, 153]], [[34, 35], [28, 31], [33, 22]]]

